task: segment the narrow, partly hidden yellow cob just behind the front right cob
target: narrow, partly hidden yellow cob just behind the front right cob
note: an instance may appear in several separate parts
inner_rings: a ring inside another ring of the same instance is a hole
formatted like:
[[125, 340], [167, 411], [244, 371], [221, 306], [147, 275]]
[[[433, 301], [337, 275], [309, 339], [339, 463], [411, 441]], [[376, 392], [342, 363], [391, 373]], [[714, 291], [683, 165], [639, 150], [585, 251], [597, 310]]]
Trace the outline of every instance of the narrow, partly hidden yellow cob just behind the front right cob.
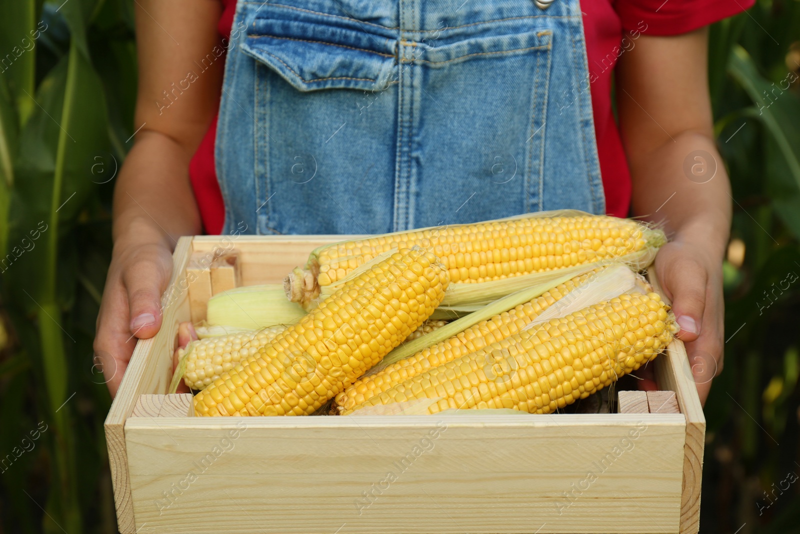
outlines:
[[356, 404], [362, 404], [366, 399], [390, 389], [398, 382], [430, 371], [442, 363], [453, 361], [516, 334], [526, 324], [536, 319], [542, 311], [545, 311], [575, 287], [586, 282], [596, 272], [590, 271], [576, 276], [527, 303], [494, 315], [491, 319], [475, 324], [450, 339], [436, 343], [397, 363], [392, 363], [374, 375], [358, 379], [352, 386], [336, 395], [336, 404], [339, 410], [349, 410]]

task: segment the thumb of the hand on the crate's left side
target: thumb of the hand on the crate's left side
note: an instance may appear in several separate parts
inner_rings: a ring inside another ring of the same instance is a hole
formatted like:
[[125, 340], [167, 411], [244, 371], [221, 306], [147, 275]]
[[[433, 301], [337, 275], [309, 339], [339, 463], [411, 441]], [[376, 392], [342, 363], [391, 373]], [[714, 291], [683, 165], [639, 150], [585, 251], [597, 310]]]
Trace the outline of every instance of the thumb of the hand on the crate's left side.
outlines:
[[130, 308], [130, 335], [153, 337], [161, 328], [161, 295], [166, 287], [166, 269], [152, 259], [139, 259], [122, 276]]

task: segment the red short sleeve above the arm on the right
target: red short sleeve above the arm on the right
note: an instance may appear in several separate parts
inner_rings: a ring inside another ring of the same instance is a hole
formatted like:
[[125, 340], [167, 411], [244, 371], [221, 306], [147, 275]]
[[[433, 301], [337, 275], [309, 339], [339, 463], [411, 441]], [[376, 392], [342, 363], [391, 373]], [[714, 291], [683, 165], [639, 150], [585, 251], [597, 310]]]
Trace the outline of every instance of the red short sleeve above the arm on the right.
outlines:
[[615, 0], [614, 10], [625, 30], [677, 35], [741, 13], [754, 3], [755, 0]]

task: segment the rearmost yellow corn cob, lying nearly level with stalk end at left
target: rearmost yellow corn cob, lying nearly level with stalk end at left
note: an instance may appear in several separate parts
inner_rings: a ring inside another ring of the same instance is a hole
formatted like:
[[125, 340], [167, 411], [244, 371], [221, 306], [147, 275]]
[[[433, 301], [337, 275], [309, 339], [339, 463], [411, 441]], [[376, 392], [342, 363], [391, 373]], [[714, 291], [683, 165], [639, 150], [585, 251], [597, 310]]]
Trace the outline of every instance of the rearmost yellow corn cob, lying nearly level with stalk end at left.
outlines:
[[434, 227], [319, 247], [306, 270], [284, 282], [286, 295], [308, 307], [321, 287], [344, 279], [363, 263], [395, 247], [432, 251], [451, 283], [482, 283], [618, 258], [664, 241], [633, 220], [607, 215], [529, 217], [453, 227]]

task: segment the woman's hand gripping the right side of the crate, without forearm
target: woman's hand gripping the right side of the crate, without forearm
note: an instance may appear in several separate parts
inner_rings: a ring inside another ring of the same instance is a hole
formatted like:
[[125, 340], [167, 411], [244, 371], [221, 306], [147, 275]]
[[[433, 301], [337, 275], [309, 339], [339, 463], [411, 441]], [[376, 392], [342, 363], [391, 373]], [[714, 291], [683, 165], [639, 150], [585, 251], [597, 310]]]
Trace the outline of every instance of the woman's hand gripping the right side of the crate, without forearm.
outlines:
[[722, 258], [710, 252], [708, 235], [679, 232], [658, 251], [656, 274], [686, 343], [689, 366], [705, 404], [711, 379], [722, 372], [725, 303], [722, 298]]

